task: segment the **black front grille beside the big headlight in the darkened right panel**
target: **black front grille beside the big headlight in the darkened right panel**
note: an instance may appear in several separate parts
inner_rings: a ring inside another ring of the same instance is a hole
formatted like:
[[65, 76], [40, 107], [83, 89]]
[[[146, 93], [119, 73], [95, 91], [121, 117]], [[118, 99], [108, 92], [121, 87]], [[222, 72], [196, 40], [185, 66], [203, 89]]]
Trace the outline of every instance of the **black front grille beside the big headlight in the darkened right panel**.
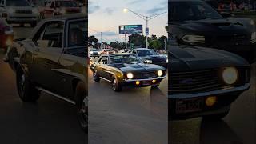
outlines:
[[218, 70], [169, 73], [168, 81], [170, 94], [206, 92], [222, 88]]

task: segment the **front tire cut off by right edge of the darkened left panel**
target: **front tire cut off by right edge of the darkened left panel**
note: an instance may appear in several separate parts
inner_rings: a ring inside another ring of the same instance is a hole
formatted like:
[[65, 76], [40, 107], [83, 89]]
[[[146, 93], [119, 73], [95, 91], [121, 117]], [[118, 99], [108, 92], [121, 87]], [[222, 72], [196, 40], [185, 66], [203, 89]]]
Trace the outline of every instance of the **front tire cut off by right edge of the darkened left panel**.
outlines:
[[75, 103], [78, 114], [78, 121], [82, 130], [88, 132], [88, 97], [83, 82], [78, 82], [75, 90]]

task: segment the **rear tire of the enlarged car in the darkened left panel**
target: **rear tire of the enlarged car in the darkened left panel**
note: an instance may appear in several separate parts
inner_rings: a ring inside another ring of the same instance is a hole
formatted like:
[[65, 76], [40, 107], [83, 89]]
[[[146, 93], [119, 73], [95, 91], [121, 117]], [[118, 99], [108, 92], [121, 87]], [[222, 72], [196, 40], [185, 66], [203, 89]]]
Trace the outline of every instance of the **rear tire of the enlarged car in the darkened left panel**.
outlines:
[[18, 66], [16, 70], [16, 85], [19, 98], [22, 99], [22, 102], [37, 102], [41, 91], [37, 90], [33, 83], [30, 82], [22, 67]]

